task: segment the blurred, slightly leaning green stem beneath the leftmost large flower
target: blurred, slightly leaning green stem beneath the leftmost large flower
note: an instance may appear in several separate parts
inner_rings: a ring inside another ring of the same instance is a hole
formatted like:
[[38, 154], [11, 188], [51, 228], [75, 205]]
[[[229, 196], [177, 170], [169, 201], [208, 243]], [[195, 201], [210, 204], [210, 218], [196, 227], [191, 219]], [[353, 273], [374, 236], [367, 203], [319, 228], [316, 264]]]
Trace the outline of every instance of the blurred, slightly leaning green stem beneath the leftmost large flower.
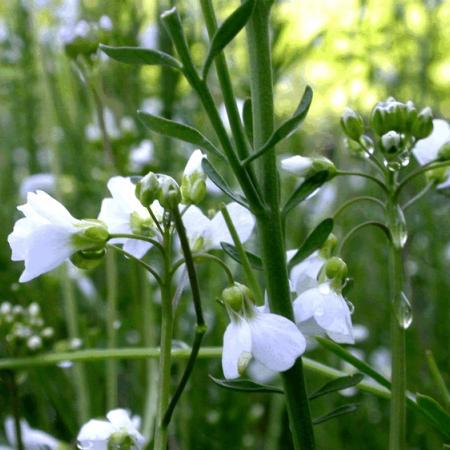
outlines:
[[[72, 281], [67, 273], [67, 267], [63, 266], [62, 272], [62, 297], [64, 302], [64, 315], [66, 320], [67, 334], [70, 340], [80, 338], [80, 329], [78, 326], [78, 308], [75, 301]], [[86, 370], [84, 365], [75, 364], [73, 366], [73, 383], [76, 390], [78, 403], [78, 421], [80, 424], [89, 420], [89, 390], [87, 383]]]

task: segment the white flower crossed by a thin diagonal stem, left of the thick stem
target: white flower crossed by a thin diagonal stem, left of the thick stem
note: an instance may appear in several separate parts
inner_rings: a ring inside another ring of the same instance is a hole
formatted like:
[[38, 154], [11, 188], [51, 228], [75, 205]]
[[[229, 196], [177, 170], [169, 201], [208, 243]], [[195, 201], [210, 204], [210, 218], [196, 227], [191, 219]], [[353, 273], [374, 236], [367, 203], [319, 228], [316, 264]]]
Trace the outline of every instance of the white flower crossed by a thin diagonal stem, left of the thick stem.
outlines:
[[[238, 203], [229, 203], [227, 211], [241, 242], [247, 241], [255, 226], [253, 215]], [[183, 215], [186, 234], [194, 252], [220, 248], [221, 242], [233, 243], [228, 227], [219, 211], [211, 220], [199, 208], [190, 206]]]

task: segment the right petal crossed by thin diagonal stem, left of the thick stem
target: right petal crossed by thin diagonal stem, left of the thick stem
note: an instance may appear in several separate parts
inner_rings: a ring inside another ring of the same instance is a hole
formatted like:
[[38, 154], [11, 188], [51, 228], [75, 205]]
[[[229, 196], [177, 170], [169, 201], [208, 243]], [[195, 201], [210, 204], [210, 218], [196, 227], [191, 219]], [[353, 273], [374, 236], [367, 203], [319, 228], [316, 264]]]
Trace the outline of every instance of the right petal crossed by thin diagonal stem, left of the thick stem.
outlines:
[[[246, 242], [255, 227], [255, 218], [253, 214], [239, 203], [229, 203], [227, 205], [228, 214], [233, 221], [233, 225], [236, 228], [236, 232], [241, 242]], [[221, 242], [233, 243], [233, 239], [228, 231], [228, 227], [221, 212], [218, 212], [211, 220], [211, 239], [212, 248], [220, 248]]]

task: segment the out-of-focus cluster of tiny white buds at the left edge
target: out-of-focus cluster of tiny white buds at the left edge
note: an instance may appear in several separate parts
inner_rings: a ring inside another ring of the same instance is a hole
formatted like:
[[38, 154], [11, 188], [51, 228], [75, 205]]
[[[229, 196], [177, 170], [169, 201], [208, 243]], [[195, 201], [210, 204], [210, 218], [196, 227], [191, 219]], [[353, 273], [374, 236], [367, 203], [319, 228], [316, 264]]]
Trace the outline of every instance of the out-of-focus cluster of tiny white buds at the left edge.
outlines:
[[45, 348], [54, 331], [46, 327], [37, 303], [28, 308], [0, 304], [0, 354], [26, 356]]

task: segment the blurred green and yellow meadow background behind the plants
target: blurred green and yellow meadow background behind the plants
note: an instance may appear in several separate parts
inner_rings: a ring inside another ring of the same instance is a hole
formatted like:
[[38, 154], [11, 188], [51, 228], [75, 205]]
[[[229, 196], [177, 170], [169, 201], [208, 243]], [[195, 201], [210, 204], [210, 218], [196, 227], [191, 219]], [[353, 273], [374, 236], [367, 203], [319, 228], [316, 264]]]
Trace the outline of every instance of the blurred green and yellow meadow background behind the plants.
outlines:
[[[194, 59], [200, 64], [208, 42], [198, 2], [174, 3], [182, 14]], [[238, 4], [225, 0], [213, 3], [222, 20]], [[61, 301], [67, 284], [62, 287], [61, 272], [54, 271], [19, 285], [22, 266], [11, 263], [6, 243], [19, 216], [16, 205], [24, 202], [24, 182], [30, 183], [31, 175], [53, 174], [56, 183], [51, 177], [34, 181], [41, 188], [46, 180], [44, 190], [62, 199], [74, 216], [96, 217], [101, 199], [109, 195], [106, 181], [110, 176], [141, 175], [152, 169], [179, 177], [193, 150], [186, 144], [150, 134], [138, 121], [137, 109], [176, 118], [213, 136], [198, 99], [187, 83], [169, 69], [120, 65], [98, 54], [94, 57], [93, 72], [111, 138], [110, 153], [105, 154], [99, 138], [95, 99], [64, 52], [64, 39], [80, 20], [100, 21], [104, 42], [155, 46], [170, 52], [170, 43], [157, 21], [159, 13], [169, 6], [163, 0], [0, 3], [0, 302], [9, 300], [21, 305], [38, 302], [46, 322], [55, 328], [60, 346], [68, 337]], [[345, 150], [340, 115], [345, 106], [350, 106], [367, 117], [376, 101], [390, 95], [402, 101], [411, 99], [419, 108], [431, 106], [435, 117], [449, 118], [449, 23], [448, 1], [276, 1], [272, 38], [277, 118], [281, 120], [295, 109], [306, 84], [314, 90], [306, 122], [279, 146], [279, 153], [322, 154], [342, 169], [363, 167], [363, 160], [352, 158]], [[249, 95], [249, 80], [244, 33], [230, 45], [226, 56], [235, 92], [239, 99], [245, 99]], [[220, 105], [220, 90], [213, 71], [209, 84]], [[410, 166], [415, 164], [412, 161]], [[224, 176], [230, 178], [226, 166], [222, 169]], [[293, 180], [289, 177], [283, 180], [286, 196]], [[423, 180], [417, 180], [405, 198], [422, 186]], [[336, 179], [326, 185], [291, 216], [289, 248], [299, 246], [306, 234], [345, 199], [363, 193], [376, 195], [377, 191], [354, 179]], [[210, 196], [205, 211], [217, 207], [219, 200]], [[335, 232], [342, 237], [355, 224], [376, 216], [377, 211], [366, 204], [355, 206], [340, 217]], [[433, 351], [448, 383], [448, 193], [430, 192], [408, 210], [407, 221], [407, 294], [414, 309], [413, 325], [407, 333], [408, 387], [437, 396], [425, 350]], [[362, 334], [366, 334], [355, 348], [380, 371], [389, 371], [388, 274], [383, 239], [379, 231], [367, 229], [355, 235], [343, 257], [354, 279], [348, 294], [355, 305], [353, 322], [363, 326]], [[157, 345], [157, 295], [152, 287], [144, 286], [146, 280], [134, 264], [119, 259], [117, 264], [119, 344]], [[221, 344], [228, 320], [215, 302], [225, 279], [214, 270], [209, 266], [200, 268], [209, 324], [205, 345]], [[74, 273], [69, 284], [79, 310], [83, 348], [105, 347], [104, 265], [88, 273]], [[151, 311], [149, 302], [143, 301], [144, 294], [155, 300], [150, 302]], [[188, 299], [185, 294], [177, 312], [177, 338], [190, 343], [194, 316]], [[308, 356], [342, 367], [322, 350], [313, 350]], [[146, 365], [124, 361], [119, 368], [119, 404], [142, 414]], [[99, 387], [105, 383], [105, 364], [89, 363], [85, 369], [91, 417], [104, 416], [105, 396]], [[174, 375], [179, 375], [181, 369], [181, 364], [176, 365]], [[72, 371], [60, 367], [32, 369], [21, 373], [20, 380], [23, 414], [30, 424], [73, 444], [81, 424], [76, 414]], [[287, 418], [279, 399], [220, 390], [209, 382], [208, 373], [221, 376], [220, 361], [199, 362], [175, 417], [172, 448], [290, 448]], [[320, 385], [320, 377], [307, 375], [311, 388]], [[2, 385], [0, 422], [10, 414], [7, 399], [6, 387]], [[313, 415], [324, 414], [346, 401], [339, 395], [319, 400], [313, 404]], [[353, 393], [352, 401], [360, 405], [355, 414], [317, 427], [318, 447], [386, 448], [388, 402], [358, 392]], [[408, 448], [441, 448], [441, 438], [420, 417], [410, 413], [408, 420]]]

